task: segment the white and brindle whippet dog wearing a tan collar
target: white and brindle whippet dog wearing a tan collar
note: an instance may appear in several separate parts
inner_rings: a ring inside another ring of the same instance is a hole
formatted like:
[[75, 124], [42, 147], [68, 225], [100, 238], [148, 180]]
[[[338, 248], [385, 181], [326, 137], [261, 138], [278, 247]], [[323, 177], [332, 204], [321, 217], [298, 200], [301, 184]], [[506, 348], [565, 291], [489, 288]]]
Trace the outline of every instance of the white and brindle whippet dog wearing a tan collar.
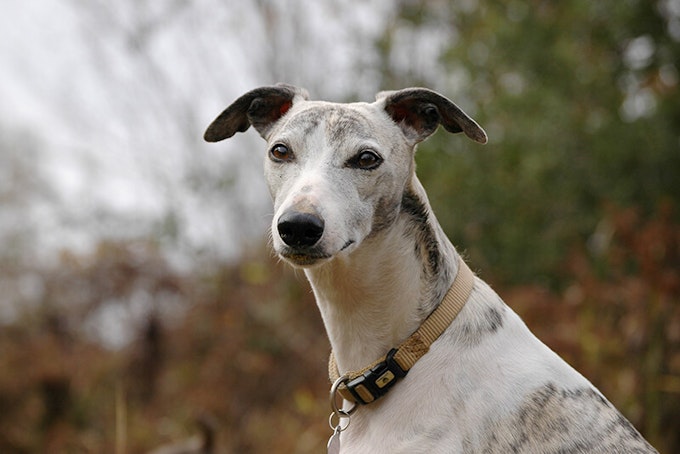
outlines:
[[[440, 124], [487, 140], [424, 88], [339, 104], [262, 87], [205, 132], [216, 142], [252, 125], [267, 141], [273, 248], [311, 284], [345, 398], [336, 413], [349, 418], [329, 451], [656, 452], [460, 259], [415, 174], [416, 145]], [[415, 361], [399, 359], [450, 293], [462, 307]]]

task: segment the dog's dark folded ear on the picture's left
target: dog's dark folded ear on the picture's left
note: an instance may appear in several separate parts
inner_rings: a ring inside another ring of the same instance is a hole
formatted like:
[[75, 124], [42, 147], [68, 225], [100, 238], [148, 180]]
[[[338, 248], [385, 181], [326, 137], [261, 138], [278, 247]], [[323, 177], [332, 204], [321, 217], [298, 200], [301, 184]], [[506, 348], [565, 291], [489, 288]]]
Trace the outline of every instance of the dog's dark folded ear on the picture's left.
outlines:
[[250, 125], [266, 138], [271, 127], [288, 112], [296, 98], [308, 99], [309, 96], [306, 90], [286, 84], [249, 91], [210, 123], [203, 138], [207, 142], [219, 142], [246, 131]]

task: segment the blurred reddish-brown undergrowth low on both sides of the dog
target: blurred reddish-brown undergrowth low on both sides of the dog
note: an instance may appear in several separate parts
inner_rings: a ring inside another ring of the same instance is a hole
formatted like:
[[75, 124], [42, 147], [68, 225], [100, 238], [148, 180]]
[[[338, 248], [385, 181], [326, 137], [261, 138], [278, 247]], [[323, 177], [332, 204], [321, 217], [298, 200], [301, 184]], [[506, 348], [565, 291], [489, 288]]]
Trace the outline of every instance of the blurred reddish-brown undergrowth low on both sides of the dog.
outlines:
[[[609, 209], [590, 249], [566, 262], [564, 291], [499, 289], [668, 452], [680, 449], [672, 214]], [[196, 433], [206, 415], [217, 452], [322, 450], [328, 342], [304, 277], [268, 256], [180, 274], [155, 247], [127, 243], [51, 269], [6, 266], [16, 280], [38, 276], [42, 291], [4, 286], [26, 309], [0, 331], [0, 452], [145, 452]], [[107, 307], [131, 315], [123, 348], [96, 336]]]

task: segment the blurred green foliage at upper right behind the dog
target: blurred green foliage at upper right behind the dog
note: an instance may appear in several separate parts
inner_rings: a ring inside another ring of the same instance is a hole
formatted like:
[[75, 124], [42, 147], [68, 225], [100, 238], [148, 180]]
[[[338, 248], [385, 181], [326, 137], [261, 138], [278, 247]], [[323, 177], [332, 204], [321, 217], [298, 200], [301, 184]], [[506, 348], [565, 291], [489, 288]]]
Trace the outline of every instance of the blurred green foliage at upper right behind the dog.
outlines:
[[660, 5], [418, 5], [405, 7], [406, 24], [452, 36], [437, 88], [451, 84], [490, 136], [482, 148], [440, 132], [418, 156], [440, 221], [482, 269], [561, 285], [567, 251], [604, 206], [677, 203], [680, 42]]

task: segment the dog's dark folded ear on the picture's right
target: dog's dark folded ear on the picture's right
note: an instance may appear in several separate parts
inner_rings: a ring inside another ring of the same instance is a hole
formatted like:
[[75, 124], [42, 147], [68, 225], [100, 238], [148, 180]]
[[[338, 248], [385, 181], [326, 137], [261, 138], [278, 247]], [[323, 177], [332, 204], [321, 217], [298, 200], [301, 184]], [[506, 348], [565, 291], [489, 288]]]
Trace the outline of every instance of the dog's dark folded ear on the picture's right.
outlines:
[[449, 132], [464, 132], [475, 142], [487, 142], [486, 133], [472, 118], [452, 101], [427, 88], [380, 92], [376, 99], [384, 100], [387, 114], [414, 143], [425, 140], [440, 123]]

